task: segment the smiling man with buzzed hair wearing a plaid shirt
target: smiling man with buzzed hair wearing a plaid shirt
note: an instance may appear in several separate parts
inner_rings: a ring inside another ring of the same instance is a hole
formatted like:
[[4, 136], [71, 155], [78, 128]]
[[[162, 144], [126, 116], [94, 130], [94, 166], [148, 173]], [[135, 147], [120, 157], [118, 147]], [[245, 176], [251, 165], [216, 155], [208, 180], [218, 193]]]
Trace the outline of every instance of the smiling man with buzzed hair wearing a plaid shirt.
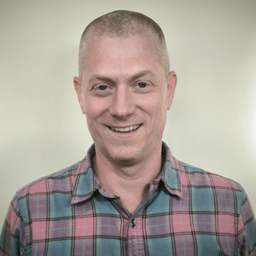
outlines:
[[116, 11], [92, 21], [73, 81], [94, 145], [18, 190], [1, 255], [256, 255], [241, 185], [162, 143], [177, 76], [153, 20]]

